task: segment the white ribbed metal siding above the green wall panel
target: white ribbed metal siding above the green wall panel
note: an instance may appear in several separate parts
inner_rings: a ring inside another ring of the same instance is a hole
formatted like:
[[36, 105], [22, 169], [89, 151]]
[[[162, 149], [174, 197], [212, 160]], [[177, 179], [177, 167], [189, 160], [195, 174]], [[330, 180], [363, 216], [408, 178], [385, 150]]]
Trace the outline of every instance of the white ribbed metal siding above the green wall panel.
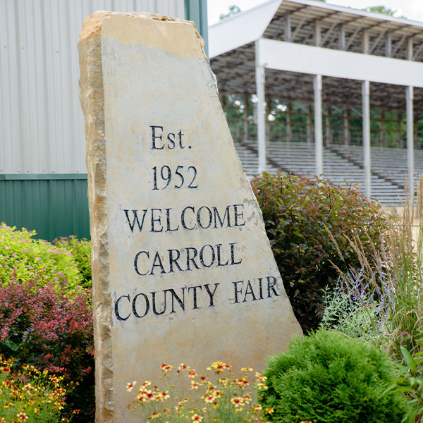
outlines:
[[185, 17], [184, 0], [0, 0], [0, 173], [86, 173], [78, 41], [94, 11]]

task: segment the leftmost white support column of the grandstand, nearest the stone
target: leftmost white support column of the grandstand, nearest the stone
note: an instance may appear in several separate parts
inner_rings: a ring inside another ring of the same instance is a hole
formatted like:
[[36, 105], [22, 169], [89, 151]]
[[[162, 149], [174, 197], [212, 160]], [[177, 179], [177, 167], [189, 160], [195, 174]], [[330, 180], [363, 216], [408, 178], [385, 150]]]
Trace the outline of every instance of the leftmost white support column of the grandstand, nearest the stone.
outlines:
[[255, 73], [257, 87], [257, 143], [259, 147], [259, 173], [266, 170], [266, 116], [264, 116], [264, 66], [259, 64], [259, 42], [255, 42]]

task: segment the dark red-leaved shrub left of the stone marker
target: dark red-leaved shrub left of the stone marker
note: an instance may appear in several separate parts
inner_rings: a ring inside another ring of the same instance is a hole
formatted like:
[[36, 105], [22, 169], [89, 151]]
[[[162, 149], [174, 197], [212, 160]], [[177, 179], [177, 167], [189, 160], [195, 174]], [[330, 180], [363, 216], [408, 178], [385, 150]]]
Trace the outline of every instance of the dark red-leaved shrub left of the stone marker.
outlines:
[[94, 345], [90, 290], [71, 294], [62, 282], [11, 281], [0, 286], [0, 353], [78, 383], [65, 412], [73, 422], [94, 419]]

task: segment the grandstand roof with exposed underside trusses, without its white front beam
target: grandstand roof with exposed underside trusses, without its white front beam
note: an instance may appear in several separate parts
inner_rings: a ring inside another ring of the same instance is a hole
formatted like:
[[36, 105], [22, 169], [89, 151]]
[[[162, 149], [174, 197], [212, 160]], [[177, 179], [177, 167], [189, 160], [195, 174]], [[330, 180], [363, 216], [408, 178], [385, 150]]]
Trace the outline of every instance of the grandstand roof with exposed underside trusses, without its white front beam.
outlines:
[[[316, 23], [319, 47], [362, 53], [362, 34], [367, 31], [369, 55], [404, 61], [407, 49], [410, 56], [408, 40], [412, 40], [412, 60], [423, 61], [423, 23], [321, 1], [270, 0], [209, 27], [211, 66], [219, 91], [255, 93], [255, 41], [264, 38], [315, 46]], [[324, 103], [361, 107], [359, 80], [324, 76], [323, 85]], [[372, 82], [371, 90], [372, 107], [405, 110], [403, 86]], [[266, 68], [266, 93], [286, 102], [312, 103], [312, 75]], [[422, 110], [422, 87], [415, 87], [414, 97], [415, 109]]]

